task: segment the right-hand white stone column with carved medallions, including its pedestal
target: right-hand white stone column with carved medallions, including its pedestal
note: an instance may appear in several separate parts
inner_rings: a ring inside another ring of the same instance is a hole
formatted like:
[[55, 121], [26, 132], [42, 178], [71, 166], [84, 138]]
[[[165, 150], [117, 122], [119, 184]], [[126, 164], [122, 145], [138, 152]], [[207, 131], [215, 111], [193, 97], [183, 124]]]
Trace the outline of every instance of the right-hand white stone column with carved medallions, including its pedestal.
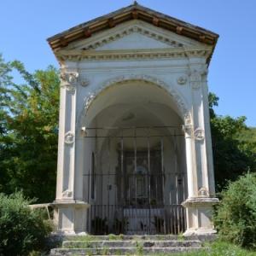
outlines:
[[187, 211], [187, 230], [184, 236], [216, 233], [212, 225], [212, 205], [218, 203], [218, 199], [214, 197], [212, 188], [212, 151], [210, 152], [209, 147], [211, 133], [209, 126], [206, 125], [209, 124], [209, 114], [206, 113], [208, 101], [203, 88], [206, 86], [203, 83], [206, 76], [205, 65], [193, 63], [190, 66], [193, 121], [189, 129], [187, 128], [189, 132], [185, 132], [189, 195], [183, 202], [183, 207], [186, 207]]

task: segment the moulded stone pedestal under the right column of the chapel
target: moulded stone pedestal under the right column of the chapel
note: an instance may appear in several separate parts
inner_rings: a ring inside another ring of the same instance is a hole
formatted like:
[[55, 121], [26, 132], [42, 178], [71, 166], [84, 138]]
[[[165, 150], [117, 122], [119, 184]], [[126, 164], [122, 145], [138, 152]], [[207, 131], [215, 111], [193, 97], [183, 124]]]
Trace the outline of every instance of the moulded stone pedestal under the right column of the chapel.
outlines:
[[211, 236], [217, 233], [212, 223], [212, 206], [218, 198], [195, 197], [183, 201], [187, 213], [187, 230], [183, 236]]

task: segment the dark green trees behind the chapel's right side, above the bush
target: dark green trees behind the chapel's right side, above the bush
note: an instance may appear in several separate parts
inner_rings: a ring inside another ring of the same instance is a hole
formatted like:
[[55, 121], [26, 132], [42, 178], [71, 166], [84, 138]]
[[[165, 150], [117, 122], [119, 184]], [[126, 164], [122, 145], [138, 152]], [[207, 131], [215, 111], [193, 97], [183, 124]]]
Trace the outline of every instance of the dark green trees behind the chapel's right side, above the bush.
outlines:
[[217, 191], [221, 191], [228, 180], [256, 171], [256, 143], [243, 135], [250, 131], [245, 117], [218, 116], [213, 107], [218, 106], [218, 97], [209, 94], [212, 130], [212, 151]]

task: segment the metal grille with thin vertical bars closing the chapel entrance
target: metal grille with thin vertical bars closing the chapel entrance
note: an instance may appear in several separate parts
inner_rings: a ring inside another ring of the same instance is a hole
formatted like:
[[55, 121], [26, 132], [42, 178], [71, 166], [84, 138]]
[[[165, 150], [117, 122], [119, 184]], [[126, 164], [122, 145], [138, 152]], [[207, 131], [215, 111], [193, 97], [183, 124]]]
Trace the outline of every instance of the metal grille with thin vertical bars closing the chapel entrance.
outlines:
[[85, 137], [90, 145], [90, 167], [84, 172], [90, 234], [179, 234], [186, 229], [181, 206], [186, 176], [177, 160], [177, 137], [183, 134], [173, 127], [172, 134], [170, 127], [166, 134], [145, 129], [116, 129], [113, 136], [93, 128]]

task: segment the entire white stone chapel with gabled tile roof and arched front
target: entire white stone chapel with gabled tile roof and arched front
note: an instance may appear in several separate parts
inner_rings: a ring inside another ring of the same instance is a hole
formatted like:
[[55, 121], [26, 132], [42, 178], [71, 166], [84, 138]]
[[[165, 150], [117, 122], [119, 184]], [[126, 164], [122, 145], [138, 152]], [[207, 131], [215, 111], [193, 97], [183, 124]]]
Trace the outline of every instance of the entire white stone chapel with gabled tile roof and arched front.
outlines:
[[215, 233], [207, 72], [217, 40], [136, 2], [48, 39], [61, 65], [59, 232]]

